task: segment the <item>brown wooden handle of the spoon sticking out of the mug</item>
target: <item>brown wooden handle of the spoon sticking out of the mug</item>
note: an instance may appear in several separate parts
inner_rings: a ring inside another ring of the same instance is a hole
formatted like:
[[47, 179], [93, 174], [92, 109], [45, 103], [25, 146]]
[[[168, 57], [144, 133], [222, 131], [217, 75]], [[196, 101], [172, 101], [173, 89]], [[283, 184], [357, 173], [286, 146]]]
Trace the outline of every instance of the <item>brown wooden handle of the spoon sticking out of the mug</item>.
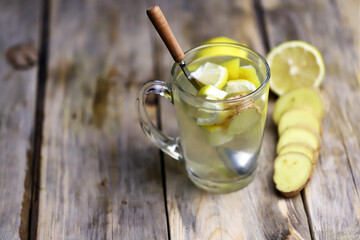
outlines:
[[172, 33], [160, 7], [157, 5], [152, 6], [146, 11], [146, 13], [161, 39], [165, 43], [174, 61], [177, 63], [183, 61], [185, 58], [184, 52], [181, 50], [180, 45]]

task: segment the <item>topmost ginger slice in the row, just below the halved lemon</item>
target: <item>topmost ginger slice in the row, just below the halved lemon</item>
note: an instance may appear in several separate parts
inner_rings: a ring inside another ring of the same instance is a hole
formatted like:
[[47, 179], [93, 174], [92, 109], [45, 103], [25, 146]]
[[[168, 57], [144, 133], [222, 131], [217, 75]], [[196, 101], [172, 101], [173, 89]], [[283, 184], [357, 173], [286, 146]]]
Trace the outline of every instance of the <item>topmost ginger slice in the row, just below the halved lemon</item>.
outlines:
[[282, 95], [275, 103], [273, 120], [278, 124], [281, 115], [291, 107], [303, 106], [311, 108], [319, 117], [324, 117], [324, 103], [320, 93], [310, 87], [301, 87]]

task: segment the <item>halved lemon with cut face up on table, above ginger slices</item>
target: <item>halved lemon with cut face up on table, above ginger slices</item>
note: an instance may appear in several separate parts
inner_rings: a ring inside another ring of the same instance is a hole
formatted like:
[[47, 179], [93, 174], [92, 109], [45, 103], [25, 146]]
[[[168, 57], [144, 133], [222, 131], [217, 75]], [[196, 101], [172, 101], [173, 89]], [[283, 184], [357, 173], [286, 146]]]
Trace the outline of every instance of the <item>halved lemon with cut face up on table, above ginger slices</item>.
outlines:
[[273, 48], [266, 58], [270, 89], [277, 95], [298, 87], [319, 87], [325, 75], [321, 53], [303, 41], [289, 41]]

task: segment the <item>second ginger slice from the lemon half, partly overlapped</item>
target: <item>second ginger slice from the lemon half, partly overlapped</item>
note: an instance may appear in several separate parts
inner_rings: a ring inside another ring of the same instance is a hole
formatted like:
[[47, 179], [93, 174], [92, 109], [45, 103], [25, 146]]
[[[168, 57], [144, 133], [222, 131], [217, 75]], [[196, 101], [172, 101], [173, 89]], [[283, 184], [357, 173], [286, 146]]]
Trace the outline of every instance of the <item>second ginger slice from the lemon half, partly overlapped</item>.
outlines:
[[279, 120], [278, 133], [281, 135], [287, 128], [293, 126], [309, 127], [321, 135], [321, 120], [309, 108], [292, 107], [284, 112]]

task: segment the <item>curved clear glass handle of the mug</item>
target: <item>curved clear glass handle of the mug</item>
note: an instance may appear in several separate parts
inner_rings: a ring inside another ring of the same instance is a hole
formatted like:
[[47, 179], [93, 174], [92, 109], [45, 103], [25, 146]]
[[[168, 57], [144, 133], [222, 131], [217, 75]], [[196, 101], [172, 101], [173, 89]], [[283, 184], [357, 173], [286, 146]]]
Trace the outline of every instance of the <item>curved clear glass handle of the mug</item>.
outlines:
[[151, 119], [146, 112], [145, 100], [150, 93], [165, 97], [168, 101], [173, 103], [171, 87], [165, 82], [152, 80], [144, 83], [136, 96], [136, 109], [140, 126], [145, 135], [153, 144], [155, 144], [155, 146], [160, 148], [170, 157], [182, 161], [184, 157], [179, 144], [179, 138], [172, 138], [165, 135], [151, 122]]

